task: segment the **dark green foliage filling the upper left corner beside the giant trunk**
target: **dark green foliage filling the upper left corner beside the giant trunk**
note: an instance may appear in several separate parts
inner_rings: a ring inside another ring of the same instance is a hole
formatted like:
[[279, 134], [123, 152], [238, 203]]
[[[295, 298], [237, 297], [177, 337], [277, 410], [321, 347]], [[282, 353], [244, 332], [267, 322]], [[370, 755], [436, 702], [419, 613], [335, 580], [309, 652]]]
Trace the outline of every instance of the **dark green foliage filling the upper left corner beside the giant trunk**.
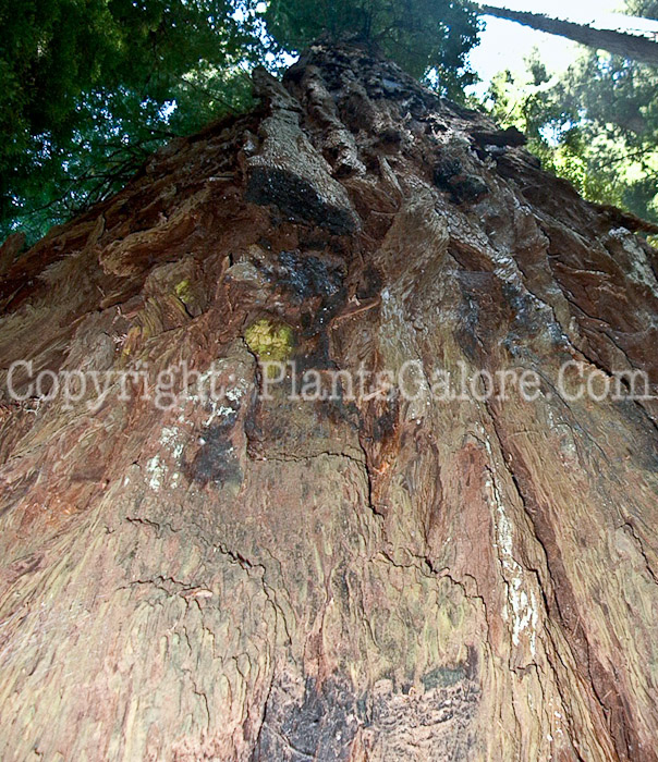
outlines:
[[173, 134], [239, 108], [253, 37], [232, 12], [227, 0], [0, 0], [0, 236], [38, 237]]

